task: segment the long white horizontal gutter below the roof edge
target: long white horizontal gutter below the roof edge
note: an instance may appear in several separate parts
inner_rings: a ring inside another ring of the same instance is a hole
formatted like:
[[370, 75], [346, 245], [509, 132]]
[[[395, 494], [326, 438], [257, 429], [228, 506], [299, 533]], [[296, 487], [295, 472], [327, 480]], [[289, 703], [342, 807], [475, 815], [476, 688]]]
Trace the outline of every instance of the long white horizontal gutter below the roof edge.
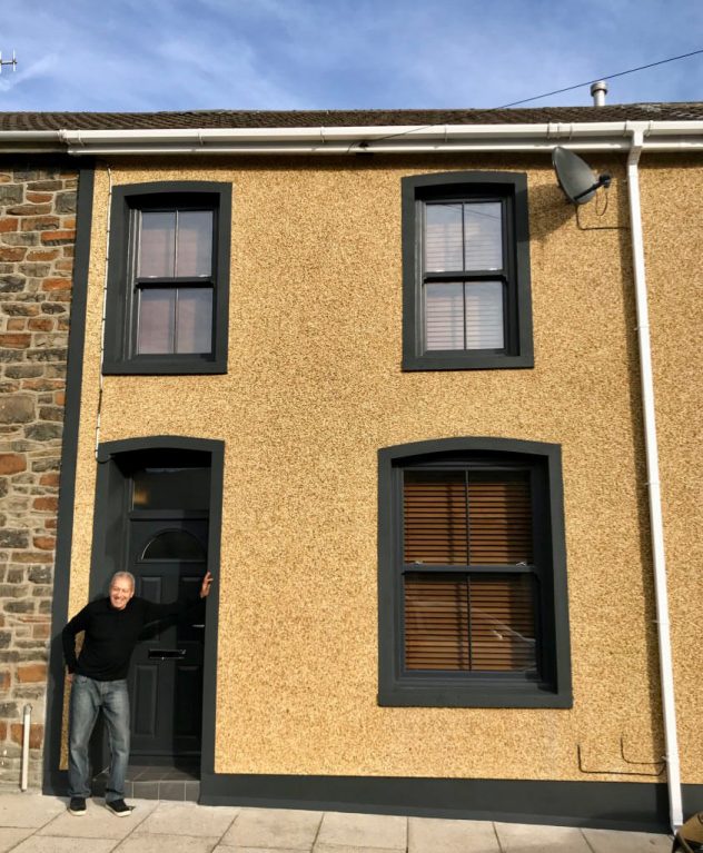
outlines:
[[0, 131], [0, 148], [51, 143], [70, 155], [354, 155], [462, 151], [703, 150], [703, 121], [584, 121], [538, 125], [383, 125], [369, 127], [182, 128]]

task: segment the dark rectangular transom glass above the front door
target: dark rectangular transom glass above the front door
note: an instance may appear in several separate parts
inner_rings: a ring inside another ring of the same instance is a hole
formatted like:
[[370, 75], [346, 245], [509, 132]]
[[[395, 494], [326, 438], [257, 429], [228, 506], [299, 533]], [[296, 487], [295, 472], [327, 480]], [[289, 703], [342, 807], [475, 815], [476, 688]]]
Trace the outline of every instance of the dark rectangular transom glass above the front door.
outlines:
[[209, 468], [142, 468], [132, 475], [132, 509], [207, 509]]

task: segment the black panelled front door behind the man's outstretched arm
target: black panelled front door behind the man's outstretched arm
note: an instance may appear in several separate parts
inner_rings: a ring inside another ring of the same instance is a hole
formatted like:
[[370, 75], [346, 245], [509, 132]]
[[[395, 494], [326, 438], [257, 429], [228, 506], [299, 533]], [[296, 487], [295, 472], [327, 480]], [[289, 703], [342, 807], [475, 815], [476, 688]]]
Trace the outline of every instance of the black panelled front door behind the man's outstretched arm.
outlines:
[[[129, 571], [151, 602], [198, 599], [207, 568], [207, 519], [187, 513], [129, 520]], [[205, 606], [145, 628], [129, 675], [131, 755], [147, 760], [200, 754]]]

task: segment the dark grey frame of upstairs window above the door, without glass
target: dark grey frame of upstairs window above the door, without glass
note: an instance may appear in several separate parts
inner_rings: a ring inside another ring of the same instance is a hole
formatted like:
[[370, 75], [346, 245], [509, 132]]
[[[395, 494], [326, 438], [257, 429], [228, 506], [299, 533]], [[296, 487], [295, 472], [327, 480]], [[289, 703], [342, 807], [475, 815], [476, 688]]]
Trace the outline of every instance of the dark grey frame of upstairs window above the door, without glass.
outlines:
[[[149, 209], [201, 207], [214, 218], [212, 351], [136, 355], [133, 258], [135, 212]], [[106, 305], [106, 375], [178, 375], [227, 373], [231, 184], [154, 181], [115, 187], [110, 207], [110, 242]]]

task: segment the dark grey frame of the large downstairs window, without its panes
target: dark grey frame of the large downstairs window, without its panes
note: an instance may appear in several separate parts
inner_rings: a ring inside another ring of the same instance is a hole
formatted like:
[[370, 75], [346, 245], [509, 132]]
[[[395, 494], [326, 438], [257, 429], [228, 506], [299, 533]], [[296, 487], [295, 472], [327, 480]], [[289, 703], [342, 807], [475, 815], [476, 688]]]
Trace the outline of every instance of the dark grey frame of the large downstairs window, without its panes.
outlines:
[[[403, 663], [403, 472], [472, 463], [528, 466], [535, 547], [542, 553], [538, 680], [491, 673], [410, 673]], [[417, 707], [573, 705], [561, 447], [508, 438], [445, 438], [378, 452], [378, 704]]]

